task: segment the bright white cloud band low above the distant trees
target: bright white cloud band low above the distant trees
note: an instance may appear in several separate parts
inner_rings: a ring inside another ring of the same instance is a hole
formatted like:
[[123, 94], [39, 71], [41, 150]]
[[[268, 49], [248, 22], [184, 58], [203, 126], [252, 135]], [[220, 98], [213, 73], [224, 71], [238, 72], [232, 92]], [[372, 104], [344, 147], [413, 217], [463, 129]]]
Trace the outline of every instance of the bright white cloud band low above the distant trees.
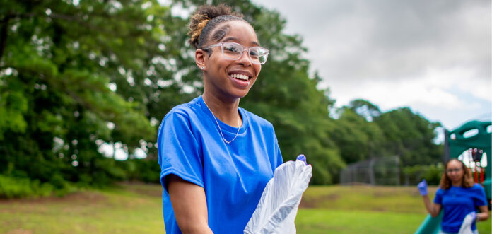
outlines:
[[428, 69], [418, 77], [406, 77], [392, 82], [384, 80], [340, 81], [332, 94], [339, 105], [355, 98], [370, 100], [383, 109], [402, 106], [426, 105], [434, 108], [472, 110], [480, 105], [461, 98], [463, 93], [472, 99], [490, 100], [490, 81], [473, 79], [473, 71], [466, 69]]

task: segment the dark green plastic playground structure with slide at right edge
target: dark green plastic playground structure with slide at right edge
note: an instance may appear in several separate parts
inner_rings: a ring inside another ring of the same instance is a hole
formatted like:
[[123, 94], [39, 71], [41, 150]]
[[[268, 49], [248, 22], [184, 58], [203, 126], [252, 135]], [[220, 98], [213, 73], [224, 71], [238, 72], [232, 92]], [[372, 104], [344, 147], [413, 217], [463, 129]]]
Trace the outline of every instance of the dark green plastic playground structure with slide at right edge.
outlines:
[[[445, 131], [445, 160], [458, 158], [469, 165], [474, 173], [475, 182], [484, 186], [489, 207], [492, 182], [491, 124], [491, 121], [470, 121], [453, 131]], [[465, 152], [468, 157], [464, 157]], [[486, 157], [486, 167], [482, 156]], [[428, 215], [415, 233], [439, 233], [442, 218], [443, 211], [435, 218]]]

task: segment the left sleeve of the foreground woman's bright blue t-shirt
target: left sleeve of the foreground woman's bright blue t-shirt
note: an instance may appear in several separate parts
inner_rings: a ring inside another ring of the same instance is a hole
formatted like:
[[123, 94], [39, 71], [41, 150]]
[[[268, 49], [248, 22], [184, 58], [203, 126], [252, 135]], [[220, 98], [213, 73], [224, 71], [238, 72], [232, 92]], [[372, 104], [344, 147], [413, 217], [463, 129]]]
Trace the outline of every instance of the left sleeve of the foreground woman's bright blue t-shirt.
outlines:
[[170, 174], [204, 187], [199, 144], [185, 114], [170, 112], [164, 117], [159, 127], [157, 143], [160, 182], [165, 189], [165, 177]]

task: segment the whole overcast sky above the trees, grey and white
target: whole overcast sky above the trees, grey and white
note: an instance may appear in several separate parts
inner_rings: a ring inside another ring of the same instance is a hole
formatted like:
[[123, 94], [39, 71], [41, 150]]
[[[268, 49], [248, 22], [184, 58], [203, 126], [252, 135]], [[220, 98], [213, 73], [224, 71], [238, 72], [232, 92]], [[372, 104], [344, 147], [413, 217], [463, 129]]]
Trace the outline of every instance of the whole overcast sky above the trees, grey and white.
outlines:
[[254, 0], [303, 37], [336, 105], [411, 107], [447, 129], [492, 117], [490, 0]]

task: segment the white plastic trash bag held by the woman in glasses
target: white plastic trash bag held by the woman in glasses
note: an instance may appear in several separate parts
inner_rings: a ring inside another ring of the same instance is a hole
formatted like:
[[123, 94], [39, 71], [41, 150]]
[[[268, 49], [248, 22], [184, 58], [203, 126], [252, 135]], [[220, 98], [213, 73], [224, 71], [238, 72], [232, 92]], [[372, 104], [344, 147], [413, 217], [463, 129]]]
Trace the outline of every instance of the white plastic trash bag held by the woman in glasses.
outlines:
[[279, 165], [266, 184], [244, 233], [295, 233], [295, 216], [311, 176], [312, 167], [305, 163], [303, 155], [295, 162]]

